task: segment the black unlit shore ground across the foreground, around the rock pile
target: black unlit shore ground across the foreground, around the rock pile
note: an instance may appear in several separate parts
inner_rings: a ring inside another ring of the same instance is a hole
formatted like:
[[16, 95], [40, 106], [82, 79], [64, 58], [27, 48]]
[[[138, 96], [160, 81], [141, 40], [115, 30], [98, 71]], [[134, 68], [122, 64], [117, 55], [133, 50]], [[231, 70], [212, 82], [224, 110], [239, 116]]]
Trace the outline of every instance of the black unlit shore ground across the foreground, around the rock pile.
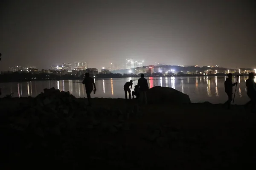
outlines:
[[241, 170], [256, 166], [256, 115], [242, 106], [230, 111], [207, 102], [137, 107], [136, 100], [93, 99], [92, 107], [74, 113], [65, 130], [45, 135], [26, 123], [31, 114], [20, 120], [21, 127], [18, 123], [13, 127], [20, 102], [29, 105], [34, 100], [0, 101], [1, 169]]

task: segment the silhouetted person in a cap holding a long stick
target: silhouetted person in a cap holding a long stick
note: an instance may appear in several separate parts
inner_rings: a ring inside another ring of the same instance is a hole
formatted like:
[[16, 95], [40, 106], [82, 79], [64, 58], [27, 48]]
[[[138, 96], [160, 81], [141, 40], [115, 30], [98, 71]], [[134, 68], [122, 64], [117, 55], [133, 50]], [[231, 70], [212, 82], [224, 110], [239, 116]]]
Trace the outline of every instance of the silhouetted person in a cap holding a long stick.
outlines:
[[235, 86], [237, 84], [237, 82], [233, 83], [232, 82], [232, 74], [229, 73], [227, 74], [227, 79], [224, 83], [225, 85], [225, 92], [228, 96], [228, 100], [227, 102], [224, 103], [224, 106], [227, 105], [227, 108], [230, 109], [231, 106], [231, 101], [233, 100], [233, 86]]

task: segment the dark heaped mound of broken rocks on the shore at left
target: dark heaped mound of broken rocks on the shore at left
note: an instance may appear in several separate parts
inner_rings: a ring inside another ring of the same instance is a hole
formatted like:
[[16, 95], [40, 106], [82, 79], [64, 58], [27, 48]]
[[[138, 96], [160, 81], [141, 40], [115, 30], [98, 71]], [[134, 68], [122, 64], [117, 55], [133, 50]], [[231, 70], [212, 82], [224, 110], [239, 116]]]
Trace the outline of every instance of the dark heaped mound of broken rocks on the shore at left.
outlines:
[[44, 137], [61, 136], [67, 130], [76, 128], [76, 117], [85, 114], [84, 102], [79, 102], [69, 92], [55, 88], [44, 89], [29, 103], [21, 103], [20, 108], [10, 117], [11, 126], [15, 130], [29, 131]]

